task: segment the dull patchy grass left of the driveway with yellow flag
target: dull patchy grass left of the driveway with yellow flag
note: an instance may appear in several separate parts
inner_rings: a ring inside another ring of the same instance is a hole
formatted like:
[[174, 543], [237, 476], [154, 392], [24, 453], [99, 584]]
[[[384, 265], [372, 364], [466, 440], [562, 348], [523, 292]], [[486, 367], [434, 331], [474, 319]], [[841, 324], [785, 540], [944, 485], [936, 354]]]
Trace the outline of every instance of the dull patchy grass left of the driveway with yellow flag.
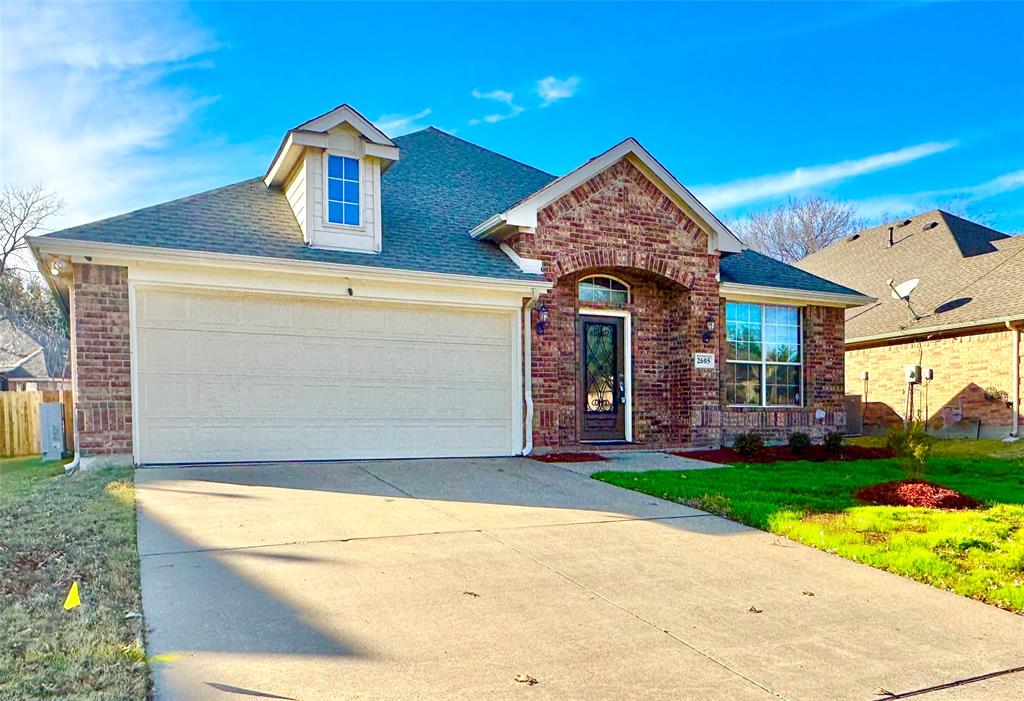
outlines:
[[130, 469], [0, 461], [0, 698], [145, 698], [134, 505]]

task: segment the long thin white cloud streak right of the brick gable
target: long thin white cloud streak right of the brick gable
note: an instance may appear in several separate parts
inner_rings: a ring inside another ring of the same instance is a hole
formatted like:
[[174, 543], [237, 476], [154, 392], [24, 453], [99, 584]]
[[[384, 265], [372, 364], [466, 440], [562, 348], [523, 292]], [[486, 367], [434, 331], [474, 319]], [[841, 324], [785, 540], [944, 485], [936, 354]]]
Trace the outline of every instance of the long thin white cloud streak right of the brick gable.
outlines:
[[713, 209], [735, 207], [901, 166], [935, 154], [941, 154], [954, 146], [956, 146], [956, 141], [930, 141], [863, 159], [797, 168], [784, 173], [744, 178], [721, 185], [707, 185], [694, 189], [700, 201], [708, 207]]

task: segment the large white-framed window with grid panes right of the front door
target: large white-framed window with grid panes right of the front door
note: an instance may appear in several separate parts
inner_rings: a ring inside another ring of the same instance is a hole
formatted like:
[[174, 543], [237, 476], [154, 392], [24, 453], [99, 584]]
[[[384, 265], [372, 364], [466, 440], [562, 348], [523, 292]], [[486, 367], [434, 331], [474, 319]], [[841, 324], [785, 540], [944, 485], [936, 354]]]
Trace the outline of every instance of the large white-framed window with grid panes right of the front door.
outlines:
[[802, 351], [799, 308], [726, 302], [726, 403], [802, 405]]

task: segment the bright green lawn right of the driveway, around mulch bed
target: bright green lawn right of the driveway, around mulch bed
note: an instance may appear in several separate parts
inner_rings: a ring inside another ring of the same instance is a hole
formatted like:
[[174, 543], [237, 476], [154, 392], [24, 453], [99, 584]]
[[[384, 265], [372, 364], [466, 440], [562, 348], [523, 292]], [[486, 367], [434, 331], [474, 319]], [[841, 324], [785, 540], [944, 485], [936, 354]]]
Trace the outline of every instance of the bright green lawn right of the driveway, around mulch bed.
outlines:
[[897, 459], [594, 477], [1024, 613], [1024, 444], [936, 444], [926, 479], [983, 502], [962, 512], [860, 506], [859, 487], [903, 478]]

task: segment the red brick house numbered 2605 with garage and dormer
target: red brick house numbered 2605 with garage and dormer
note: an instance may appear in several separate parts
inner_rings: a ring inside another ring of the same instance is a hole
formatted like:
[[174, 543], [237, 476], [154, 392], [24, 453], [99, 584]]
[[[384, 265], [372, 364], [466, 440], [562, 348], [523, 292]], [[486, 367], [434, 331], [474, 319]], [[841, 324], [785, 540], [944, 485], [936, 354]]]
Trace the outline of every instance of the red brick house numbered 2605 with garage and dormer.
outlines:
[[744, 249], [634, 139], [555, 177], [347, 105], [262, 177], [32, 250], [90, 463], [841, 430], [843, 312], [869, 301]]

